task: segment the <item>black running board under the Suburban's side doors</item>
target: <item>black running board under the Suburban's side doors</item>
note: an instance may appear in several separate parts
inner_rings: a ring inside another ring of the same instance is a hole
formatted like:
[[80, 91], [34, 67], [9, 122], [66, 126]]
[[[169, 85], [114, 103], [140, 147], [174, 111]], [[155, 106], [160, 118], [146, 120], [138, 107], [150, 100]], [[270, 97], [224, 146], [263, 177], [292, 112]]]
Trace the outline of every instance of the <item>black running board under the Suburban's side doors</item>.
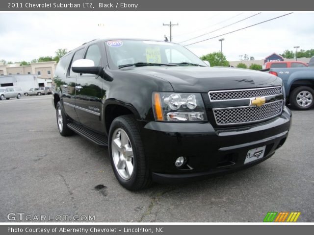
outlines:
[[67, 126], [74, 132], [78, 133], [78, 135], [85, 137], [87, 140], [92, 141], [93, 143], [96, 143], [102, 147], [108, 146], [108, 139], [103, 135], [95, 133], [76, 122], [69, 122]]

